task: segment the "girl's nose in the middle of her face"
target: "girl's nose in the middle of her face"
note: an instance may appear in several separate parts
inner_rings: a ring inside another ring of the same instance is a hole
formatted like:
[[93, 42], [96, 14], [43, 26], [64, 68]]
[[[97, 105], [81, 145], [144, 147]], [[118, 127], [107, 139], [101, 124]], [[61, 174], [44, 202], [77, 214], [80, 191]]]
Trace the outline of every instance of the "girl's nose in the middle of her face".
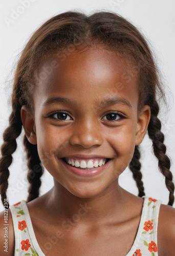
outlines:
[[94, 120], [77, 123], [71, 135], [70, 143], [84, 148], [101, 145], [103, 137], [99, 123], [95, 124]]

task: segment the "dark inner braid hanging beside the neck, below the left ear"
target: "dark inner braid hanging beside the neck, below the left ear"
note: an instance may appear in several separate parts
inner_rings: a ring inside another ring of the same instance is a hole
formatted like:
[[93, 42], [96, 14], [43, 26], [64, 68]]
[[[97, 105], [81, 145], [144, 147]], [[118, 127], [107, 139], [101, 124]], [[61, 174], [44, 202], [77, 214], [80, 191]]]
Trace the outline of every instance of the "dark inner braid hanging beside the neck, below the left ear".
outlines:
[[30, 183], [27, 202], [30, 202], [39, 196], [40, 177], [43, 174], [43, 168], [40, 165], [41, 161], [38, 156], [37, 145], [31, 144], [26, 136], [24, 137], [24, 145], [26, 147], [29, 168], [27, 178]]

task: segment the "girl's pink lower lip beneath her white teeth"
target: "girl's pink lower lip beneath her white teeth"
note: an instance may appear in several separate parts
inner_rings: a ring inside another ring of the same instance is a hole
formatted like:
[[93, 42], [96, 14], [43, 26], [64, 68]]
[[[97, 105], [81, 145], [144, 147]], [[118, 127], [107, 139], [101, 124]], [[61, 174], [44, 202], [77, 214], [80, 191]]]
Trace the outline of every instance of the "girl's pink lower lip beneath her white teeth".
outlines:
[[94, 168], [94, 169], [89, 169], [89, 170], [85, 170], [85, 169], [79, 169], [79, 168], [76, 168], [76, 167], [73, 167], [67, 163], [65, 163], [62, 159], [60, 159], [61, 162], [63, 163], [63, 165], [69, 169], [72, 173], [78, 175], [78, 176], [81, 176], [81, 177], [94, 177], [100, 173], [103, 172], [103, 170], [111, 163], [112, 159], [109, 160], [107, 163], [105, 163], [104, 165], [102, 166], [99, 166], [97, 168]]

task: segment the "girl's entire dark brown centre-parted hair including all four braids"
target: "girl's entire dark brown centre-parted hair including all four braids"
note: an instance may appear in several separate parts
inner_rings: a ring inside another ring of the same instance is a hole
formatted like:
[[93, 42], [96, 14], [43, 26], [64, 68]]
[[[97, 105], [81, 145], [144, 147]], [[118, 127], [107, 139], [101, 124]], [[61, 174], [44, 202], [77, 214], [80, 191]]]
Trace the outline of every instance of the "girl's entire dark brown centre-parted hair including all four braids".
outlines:
[[[170, 160], [166, 155], [164, 135], [161, 132], [161, 122], [158, 118], [159, 105], [157, 93], [163, 95], [159, 73], [152, 53], [142, 34], [126, 19], [112, 12], [97, 12], [87, 16], [80, 12], [65, 12], [54, 16], [43, 24], [31, 37], [18, 61], [12, 94], [12, 113], [9, 126], [5, 130], [4, 143], [1, 147], [0, 188], [2, 202], [6, 198], [8, 187], [9, 166], [12, 154], [16, 150], [16, 138], [20, 135], [22, 123], [21, 106], [27, 104], [32, 109], [32, 89], [35, 87], [35, 71], [38, 65], [47, 57], [57, 54], [63, 61], [71, 51], [81, 47], [101, 46], [114, 51], [120, 57], [130, 59], [132, 72], [124, 74], [129, 82], [133, 76], [138, 77], [139, 108], [149, 105], [151, 118], [148, 125], [148, 135], [152, 140], [154, 154], [158, 159], [160, 172], [165, 177], [169, 190], [169, 205], [173, 204], [174, 184], [169, 170]], [[28, 180], [30, 183], [28, 201], [39, 195], [40, 177], [43, 173], [37, 145], [32, 145], [24, 137], [24, 145], [28, 159]], [[133, 177], [139, 189], [139, 197], [145, 195], [140, 171], [139, 146], [135, 147], [133, 159], [129, 164]]]

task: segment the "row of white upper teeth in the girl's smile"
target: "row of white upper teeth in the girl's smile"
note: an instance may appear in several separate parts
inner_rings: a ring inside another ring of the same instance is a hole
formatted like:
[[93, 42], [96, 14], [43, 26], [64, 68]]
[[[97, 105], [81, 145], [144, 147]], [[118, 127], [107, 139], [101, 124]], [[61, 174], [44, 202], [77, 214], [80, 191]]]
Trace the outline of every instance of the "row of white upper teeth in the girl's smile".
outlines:
[[80, 168], [97, 168], [98, 166], [102, 166], [105, 164], [105, 160], [101, 159], [101, 160], [81, 160], [81, 161], [78, 161], [78, 160], [73, 160], [73, 159], [68, 159], [67, 160], [67, 163], [72, 165], [72, 166], [75, 166], [75, 167], [80, 167]]

